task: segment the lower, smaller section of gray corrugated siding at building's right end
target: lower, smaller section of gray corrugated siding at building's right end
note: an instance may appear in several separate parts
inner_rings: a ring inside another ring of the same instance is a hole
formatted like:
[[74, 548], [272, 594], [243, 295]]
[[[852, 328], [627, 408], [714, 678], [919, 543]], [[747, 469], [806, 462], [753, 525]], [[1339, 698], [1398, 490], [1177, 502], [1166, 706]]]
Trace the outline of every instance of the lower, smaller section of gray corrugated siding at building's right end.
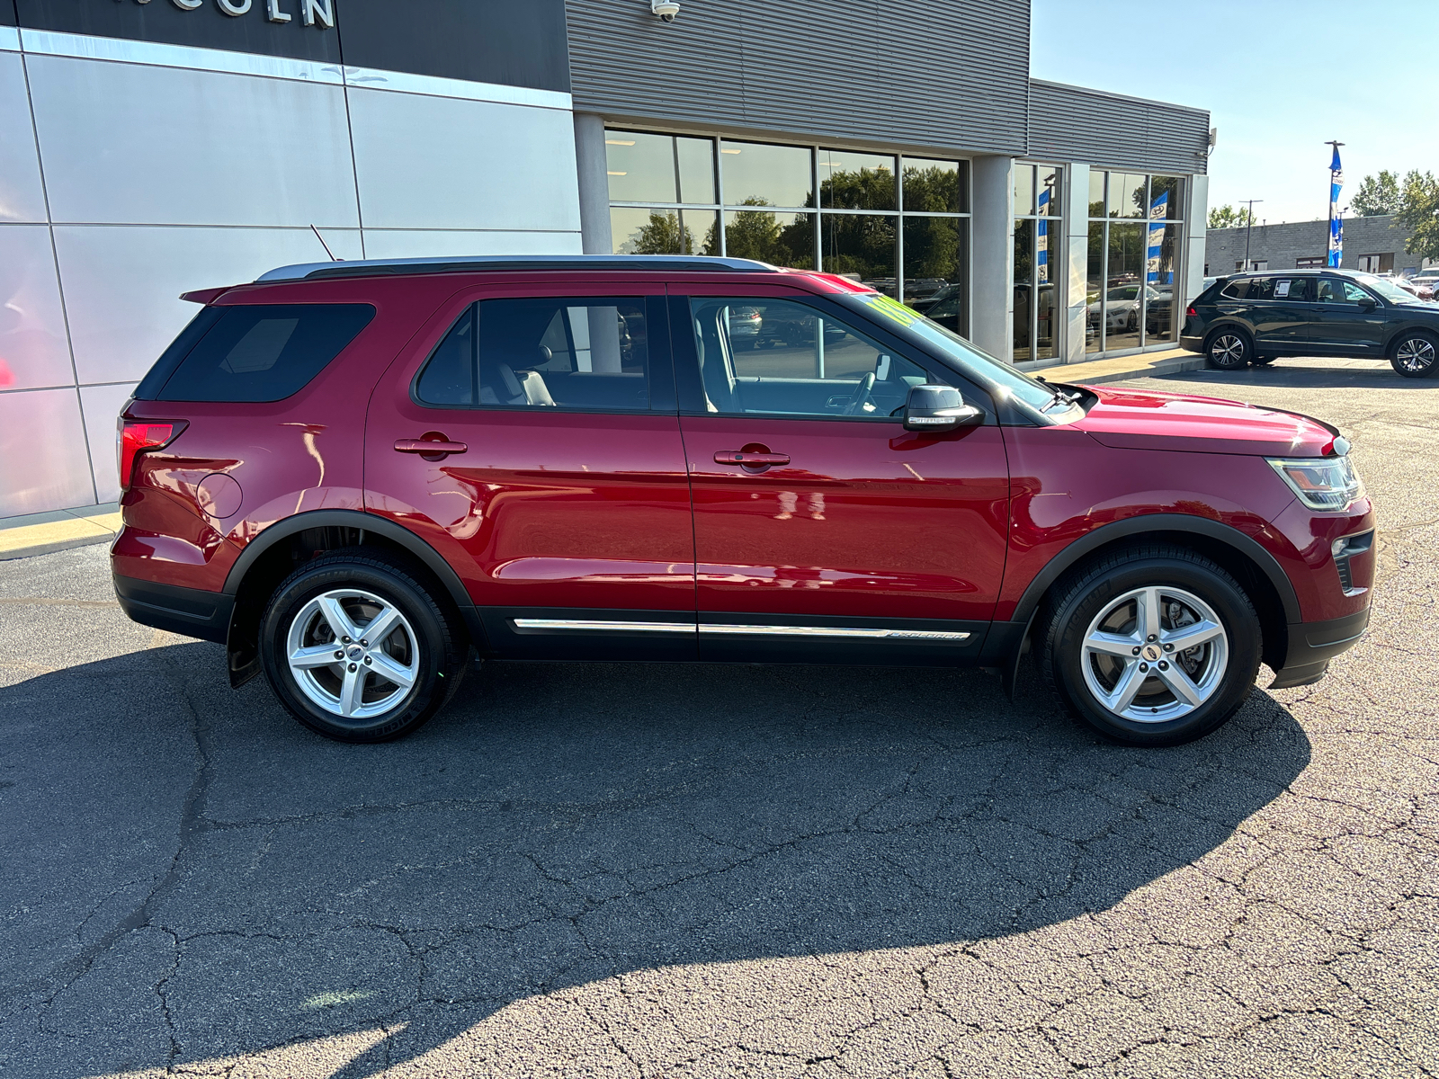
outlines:
[[1209, 112], [1032, 79], [1029, 157], [1141, 173], [1206, 171]]

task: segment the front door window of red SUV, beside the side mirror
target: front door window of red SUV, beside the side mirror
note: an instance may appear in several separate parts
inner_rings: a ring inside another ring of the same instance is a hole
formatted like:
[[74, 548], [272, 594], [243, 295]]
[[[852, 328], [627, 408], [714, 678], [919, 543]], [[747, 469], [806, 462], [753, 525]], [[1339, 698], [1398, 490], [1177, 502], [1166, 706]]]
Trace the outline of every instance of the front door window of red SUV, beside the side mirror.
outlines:
[[888, 420], [911, 386], [932, 381], [892, 348], [791, 299], [695, 298], [691, 312], [712, 413]]

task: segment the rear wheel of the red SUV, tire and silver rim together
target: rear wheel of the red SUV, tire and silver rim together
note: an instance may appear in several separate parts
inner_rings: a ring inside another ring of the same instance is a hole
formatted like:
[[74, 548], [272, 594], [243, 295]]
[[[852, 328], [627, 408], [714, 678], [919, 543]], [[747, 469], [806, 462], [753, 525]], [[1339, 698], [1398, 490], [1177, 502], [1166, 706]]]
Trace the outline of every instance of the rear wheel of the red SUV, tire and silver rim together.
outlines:
[[[381, 616], [390, 630], [371, 642], [366, 630]], [[260, 662], [305, 727], [341, 742], [383, 742], [416, 731], [455, 695], [468, 652], [458, 630], [413, 567], [335, 551], [275, 590], [260, 620]]]

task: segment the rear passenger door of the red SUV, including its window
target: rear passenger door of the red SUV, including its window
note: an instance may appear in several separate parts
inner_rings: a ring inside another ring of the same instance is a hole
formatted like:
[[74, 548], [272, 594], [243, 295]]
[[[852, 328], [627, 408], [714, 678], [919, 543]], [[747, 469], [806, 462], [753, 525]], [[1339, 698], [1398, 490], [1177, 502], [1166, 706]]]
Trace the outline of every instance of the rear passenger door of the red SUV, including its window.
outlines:
[[694, 659], [663, 285], [452, 296], [371, 399], [366, 508], [455, 567], [495, 655]]

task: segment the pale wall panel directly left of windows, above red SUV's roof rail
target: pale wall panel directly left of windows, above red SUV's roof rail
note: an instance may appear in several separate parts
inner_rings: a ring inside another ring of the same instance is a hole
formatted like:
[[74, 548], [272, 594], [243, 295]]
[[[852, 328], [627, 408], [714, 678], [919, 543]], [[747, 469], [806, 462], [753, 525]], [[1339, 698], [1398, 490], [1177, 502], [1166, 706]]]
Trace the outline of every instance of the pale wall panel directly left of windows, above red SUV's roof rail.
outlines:
[[350, 119], [366, 227], [580, 230], [567, 111], [351, 89]]

